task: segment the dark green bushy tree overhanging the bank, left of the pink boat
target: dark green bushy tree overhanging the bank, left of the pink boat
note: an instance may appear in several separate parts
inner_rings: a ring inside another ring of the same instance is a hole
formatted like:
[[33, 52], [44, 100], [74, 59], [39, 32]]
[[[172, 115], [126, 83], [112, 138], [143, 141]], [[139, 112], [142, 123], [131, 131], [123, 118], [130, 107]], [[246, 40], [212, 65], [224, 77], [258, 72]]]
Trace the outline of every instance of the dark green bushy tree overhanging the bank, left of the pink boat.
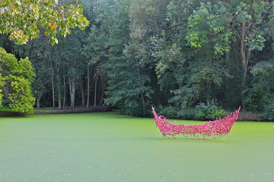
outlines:
[[124, 110], [132, 110], [132, 114], [139, 115], [138, 110], [144, 106], [142, 97], [149, 99], [152, 92], [149, 87], [150, 79], [135, 61], [129, 60], [126, 63], [118, 63], [111, 68], [112, 71], [109, 72], [111, 78], [108, 82], [110, 86], [106, 92], [109, 97], [105, 99], [105, 102]]

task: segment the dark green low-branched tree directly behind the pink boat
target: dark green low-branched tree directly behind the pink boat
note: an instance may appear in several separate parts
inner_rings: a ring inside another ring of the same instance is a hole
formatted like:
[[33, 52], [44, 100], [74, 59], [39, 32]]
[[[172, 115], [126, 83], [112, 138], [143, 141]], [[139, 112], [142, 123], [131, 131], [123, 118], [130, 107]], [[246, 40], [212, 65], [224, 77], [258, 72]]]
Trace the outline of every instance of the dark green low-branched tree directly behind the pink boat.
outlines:
[[[212, 97], [217, 96], [216, 93], [212, 93], [213, 89], [223, 87], [225, 78], [231, 77], [222, 61], [206, 60], [202, 57], [188, 63], [183, 69], [187, 73], [178, 78], [182, 87], [174, 93], [180, 95], [187, 106], [193, 105], [197, 100], [209, 105]], [[178, 101], [180, 100], [173, 99], [173, 102]]]

